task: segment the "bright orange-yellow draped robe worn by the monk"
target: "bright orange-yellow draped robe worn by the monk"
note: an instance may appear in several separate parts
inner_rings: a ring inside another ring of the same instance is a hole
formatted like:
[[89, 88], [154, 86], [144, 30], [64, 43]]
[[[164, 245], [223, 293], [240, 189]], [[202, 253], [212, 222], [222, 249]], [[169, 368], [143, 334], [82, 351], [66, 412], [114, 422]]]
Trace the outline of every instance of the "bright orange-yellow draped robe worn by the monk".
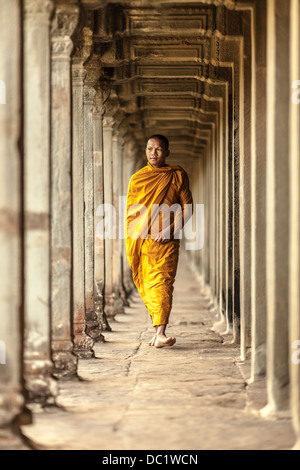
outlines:
[[169, 211], [169, 220], [178, 228], [186, 221], [184, 206], [188, 204], [191, 209], [192, 205], [188, 176], [180, 166], [154, 168], [148, 163], [131, 177], [127, 194], [126, 253], [133, 281], [153, 326], [166, 325], [169, 321], [180, 245], [174, 232], [165, 244], [156, 242], [153, 232], [162, 227], [164, 216], [160, 209], [174, 204], [182, 209], [182, 217]]

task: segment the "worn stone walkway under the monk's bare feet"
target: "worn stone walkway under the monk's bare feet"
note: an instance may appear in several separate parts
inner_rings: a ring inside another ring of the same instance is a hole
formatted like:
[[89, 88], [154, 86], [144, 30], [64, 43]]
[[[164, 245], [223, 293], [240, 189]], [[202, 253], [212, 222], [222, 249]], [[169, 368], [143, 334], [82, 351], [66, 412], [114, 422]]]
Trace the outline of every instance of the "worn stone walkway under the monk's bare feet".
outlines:
[[290, 420], [260, 416], [264, 383], [247, 385], [249, 365], [212, 331], [210, 307], [183, 254], [168, 330], [176, 345], [148, 346], [151, 322], [135, 295], [96, 357], [80, 360], [80, 380], [60, 382], [58, 407], [22, 427], [28, 442], [52, 450], [292, 448]]

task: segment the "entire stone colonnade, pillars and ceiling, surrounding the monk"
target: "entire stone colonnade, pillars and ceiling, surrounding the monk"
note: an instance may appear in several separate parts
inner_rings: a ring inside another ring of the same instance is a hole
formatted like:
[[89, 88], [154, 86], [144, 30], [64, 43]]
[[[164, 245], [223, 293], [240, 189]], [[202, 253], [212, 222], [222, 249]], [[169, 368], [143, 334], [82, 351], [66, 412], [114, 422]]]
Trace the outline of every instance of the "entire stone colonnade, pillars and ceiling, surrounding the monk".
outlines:
[[128, 304], [124, 196], [159, 132], [204, 204], [188, 255], [216, 328], [300, 446], [299, 24], [299, 0], [1, 1], [1, 427]]

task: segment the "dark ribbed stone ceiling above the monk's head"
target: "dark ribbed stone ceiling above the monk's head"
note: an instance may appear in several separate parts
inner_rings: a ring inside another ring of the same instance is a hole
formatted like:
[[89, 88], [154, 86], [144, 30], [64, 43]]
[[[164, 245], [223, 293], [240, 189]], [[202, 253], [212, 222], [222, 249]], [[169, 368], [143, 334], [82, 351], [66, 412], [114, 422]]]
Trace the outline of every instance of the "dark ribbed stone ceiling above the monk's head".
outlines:
[[170, 162], [192, 171], [224, 117], [222, 100], [231, 96], [240, 12], [224, 2], [86, 3], [95, 9], [94, 54], [112, 83], [126, 132], [141, 155], [147, 136], [167, 135]]

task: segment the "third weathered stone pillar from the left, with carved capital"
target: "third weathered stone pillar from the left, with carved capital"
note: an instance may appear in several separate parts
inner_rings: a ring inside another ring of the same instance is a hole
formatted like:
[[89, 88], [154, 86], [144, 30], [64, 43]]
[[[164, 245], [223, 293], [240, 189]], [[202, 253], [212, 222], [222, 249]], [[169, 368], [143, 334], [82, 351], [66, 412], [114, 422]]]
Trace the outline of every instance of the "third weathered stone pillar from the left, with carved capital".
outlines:
[[51, 35], [51, 323], [53, 374], [76, 373], [71, 339], [71, 35], [78, 21], [75, 5], [60, 5]]

